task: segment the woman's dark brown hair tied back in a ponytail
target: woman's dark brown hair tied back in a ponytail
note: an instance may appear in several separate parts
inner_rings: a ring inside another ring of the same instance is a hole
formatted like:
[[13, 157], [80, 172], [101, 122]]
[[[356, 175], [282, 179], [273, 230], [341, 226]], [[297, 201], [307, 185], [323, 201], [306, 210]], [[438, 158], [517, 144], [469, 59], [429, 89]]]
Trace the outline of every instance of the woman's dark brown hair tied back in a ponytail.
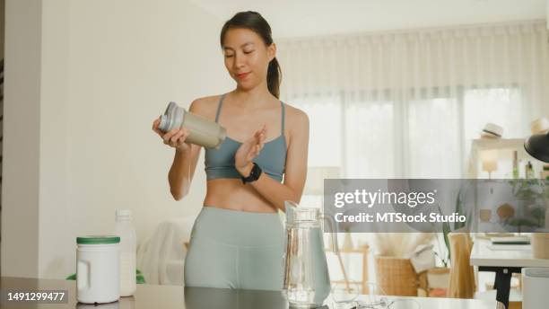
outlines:
[[[227, 31], [235, 28], [249, 29], [257, 33], [265, 42], [266, 46], [273, 44], [271, 35], [271, 26], [266, 22], [260, 13], [247, 11], [236, 13], [230, 20], [225, 22], [222, 28], [220, 43], [223, 46], [223, 40]], [[277, 99], [280, 96], [280, 83], [282, 82], [282, 71], [276, 57], [269, 62], [267, 69], [267, 88]]]

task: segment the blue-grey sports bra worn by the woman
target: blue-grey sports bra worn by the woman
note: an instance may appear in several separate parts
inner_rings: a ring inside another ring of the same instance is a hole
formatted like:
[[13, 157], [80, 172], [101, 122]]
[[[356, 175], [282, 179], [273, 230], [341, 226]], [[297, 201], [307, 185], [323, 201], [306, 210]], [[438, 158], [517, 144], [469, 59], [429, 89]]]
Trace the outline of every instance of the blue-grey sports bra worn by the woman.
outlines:
[[[219, 119], [225, 94], [219, 100], [215, 122]], [[265, 143], [261, 152], [254, 158], [263, 172], [271, 176], [276, 181], [283, 180], [284, 167], [286, 165], [286, 138], [284, 137], [284, 103], [281, 101], [282, 109], [282, 128], [279, 137]], [[234, 168], [234, 154], [239, 149], [240, 143], [231, 137], [225, 137], [218, 149], [205, 148], [205, 172], [206, 179], [213, 180], [218, 178], [240, 178], [240, 173]]]

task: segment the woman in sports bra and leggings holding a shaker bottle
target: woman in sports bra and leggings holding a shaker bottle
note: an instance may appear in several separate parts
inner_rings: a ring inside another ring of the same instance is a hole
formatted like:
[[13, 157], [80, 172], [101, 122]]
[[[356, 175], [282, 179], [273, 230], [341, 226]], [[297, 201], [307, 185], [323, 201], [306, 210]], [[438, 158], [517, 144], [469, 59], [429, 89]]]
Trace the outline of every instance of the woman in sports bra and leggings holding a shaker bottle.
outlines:
[[[280, 67], [271, 28], [255, 12], [225, 22], [221, 46], [236, 89], [198, 99], [189, 110], [220, 123], [227, 138], [205, 149], [207, 190], [185, 260], [190, 287], [279, 290], [283, 284], [284, 200], [299, 202], [307, 172], [309, 119], [279, 101]], [[200, 146], [187, 144], [188, 130], [153, 130], [175, 148], [170, 191], [188, 191]], [[242, 142], [240, 142], [242, 141]], [[281, 183], [281, 181], [283, 181]]]

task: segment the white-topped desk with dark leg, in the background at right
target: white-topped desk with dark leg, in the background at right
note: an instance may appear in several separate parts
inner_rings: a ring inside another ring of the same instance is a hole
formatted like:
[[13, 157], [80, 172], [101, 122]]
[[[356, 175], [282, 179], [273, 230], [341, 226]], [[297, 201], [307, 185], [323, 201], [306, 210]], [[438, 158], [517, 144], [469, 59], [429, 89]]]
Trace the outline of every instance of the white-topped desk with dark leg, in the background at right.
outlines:
[[534, 259], [529, 244], [492, 245], [486, 239], [475, 239], [470, 262], [479, 271], [495, 272], [493, 287], [496, 289], [496, 300], [506, 308], [509, 307], [510, 279], [513, 273], [520, 273], [525, 267], [549, 268], [549, 260]]

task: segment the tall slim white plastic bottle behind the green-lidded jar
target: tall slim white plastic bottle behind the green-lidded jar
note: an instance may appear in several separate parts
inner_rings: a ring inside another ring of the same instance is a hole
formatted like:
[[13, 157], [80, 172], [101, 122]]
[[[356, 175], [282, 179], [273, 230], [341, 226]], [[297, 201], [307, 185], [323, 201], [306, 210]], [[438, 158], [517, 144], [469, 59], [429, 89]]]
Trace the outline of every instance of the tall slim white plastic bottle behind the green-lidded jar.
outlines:
[[120, 236], [120, 296], [133, 296], [137, 245], [131, 210], [117, 209], [115, 234]]

